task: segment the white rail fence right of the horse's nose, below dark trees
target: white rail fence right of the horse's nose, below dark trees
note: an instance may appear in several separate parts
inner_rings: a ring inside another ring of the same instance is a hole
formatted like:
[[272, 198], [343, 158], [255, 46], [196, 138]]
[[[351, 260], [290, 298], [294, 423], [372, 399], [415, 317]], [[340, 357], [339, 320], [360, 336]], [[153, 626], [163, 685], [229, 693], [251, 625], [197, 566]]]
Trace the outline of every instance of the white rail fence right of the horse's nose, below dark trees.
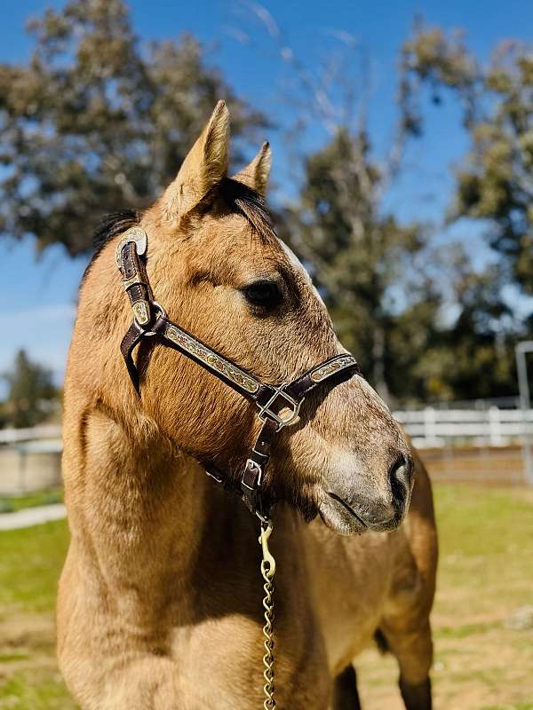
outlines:
[[533, 409], [400, 410], [394, 417], [401, 422], [419, 448], [438, 448], [451, 444], [472, 446], [509, 446], [533, 436]]

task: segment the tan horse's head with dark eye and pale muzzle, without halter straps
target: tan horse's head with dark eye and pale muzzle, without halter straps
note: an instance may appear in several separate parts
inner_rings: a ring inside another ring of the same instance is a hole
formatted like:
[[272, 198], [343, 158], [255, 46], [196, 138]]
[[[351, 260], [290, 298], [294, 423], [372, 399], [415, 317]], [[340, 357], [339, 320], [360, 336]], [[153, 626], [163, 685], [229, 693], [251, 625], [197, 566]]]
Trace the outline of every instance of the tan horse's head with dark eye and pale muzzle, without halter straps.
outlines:
[[[178, 176], [141, 219], [147, 272], [169, 317], [265, 383], [290, 381], [344, 352], [303, 266], [262, 201], [263, 146], [227, 177], [228, 112], [220, 102]], [[241, 471], [257, 435], [255, 408], [189, 359], [155, 347], [143, 407], [187, 453]], [[339, 533], [385, 530], [410, 499], [409, 447], [359, 375], [306, 398], [275, 438], [267, 492]]]

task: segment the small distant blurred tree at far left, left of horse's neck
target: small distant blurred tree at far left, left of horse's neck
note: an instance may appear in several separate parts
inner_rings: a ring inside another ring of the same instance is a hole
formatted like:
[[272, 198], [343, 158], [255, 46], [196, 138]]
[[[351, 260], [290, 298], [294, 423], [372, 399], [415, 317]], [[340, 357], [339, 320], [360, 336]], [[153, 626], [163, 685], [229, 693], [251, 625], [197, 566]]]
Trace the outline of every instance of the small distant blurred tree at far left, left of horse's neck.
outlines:
[[8, 386], [4, 419], [13, 427], [33, 427], [49, 416], [57, 403], [52, 372], [28, 359], [26, 351], [15, 356], [11, 372], [4, 375]]

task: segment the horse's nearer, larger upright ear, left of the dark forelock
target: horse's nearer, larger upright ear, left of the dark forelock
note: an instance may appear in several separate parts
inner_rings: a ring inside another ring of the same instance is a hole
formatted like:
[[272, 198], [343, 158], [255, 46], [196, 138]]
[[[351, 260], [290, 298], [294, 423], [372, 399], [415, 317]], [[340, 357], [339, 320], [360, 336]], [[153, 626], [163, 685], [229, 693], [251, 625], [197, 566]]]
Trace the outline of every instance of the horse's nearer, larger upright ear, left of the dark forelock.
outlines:
[[228, 150], [229, 111], [226, 102], [219, 101], [176, 179], [163, 194], [162, 206], [168, 217], [187, 214], [227, 176]]

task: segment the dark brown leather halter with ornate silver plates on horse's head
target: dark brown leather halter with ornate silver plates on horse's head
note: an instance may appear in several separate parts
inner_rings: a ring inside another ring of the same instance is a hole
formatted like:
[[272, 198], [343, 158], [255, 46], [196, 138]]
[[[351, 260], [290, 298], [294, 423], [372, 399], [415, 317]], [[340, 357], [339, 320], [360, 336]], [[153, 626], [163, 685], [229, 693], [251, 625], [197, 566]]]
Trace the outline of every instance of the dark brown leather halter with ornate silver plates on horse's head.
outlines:
[[[262, 486], [274, 434], [298, 419], [299, 408], [309, 392], [333, 378], [336, 384], [344, 382], [360, 373], [359, 366], [352, 355], [344, 353], [324, 360], [290, 383], [274, 386], [259, 382], [242, 367], [224, 358], [167, 317], [163, 307], [154, 300], [147, 277], [146, 254], [147, 233], [140, 227], [131, 227], [124, 233], [115, 249], [116, 264], [122, 272], [123, 288], [130, 298], [133, 312], [133, 322], [121, 343], [131, 383], [140, 395], [139, 371], [132, 353], [143, 338], [155, 336], [159, 343], [194, 360], [258, 406], [258, 416], [263, 424], [236, 490], [251, 512], [265, 520], [268, 509]], [[229, 478], [211, 461], [201, 460], [200, 463], [218, 483], [231, 487]]]

